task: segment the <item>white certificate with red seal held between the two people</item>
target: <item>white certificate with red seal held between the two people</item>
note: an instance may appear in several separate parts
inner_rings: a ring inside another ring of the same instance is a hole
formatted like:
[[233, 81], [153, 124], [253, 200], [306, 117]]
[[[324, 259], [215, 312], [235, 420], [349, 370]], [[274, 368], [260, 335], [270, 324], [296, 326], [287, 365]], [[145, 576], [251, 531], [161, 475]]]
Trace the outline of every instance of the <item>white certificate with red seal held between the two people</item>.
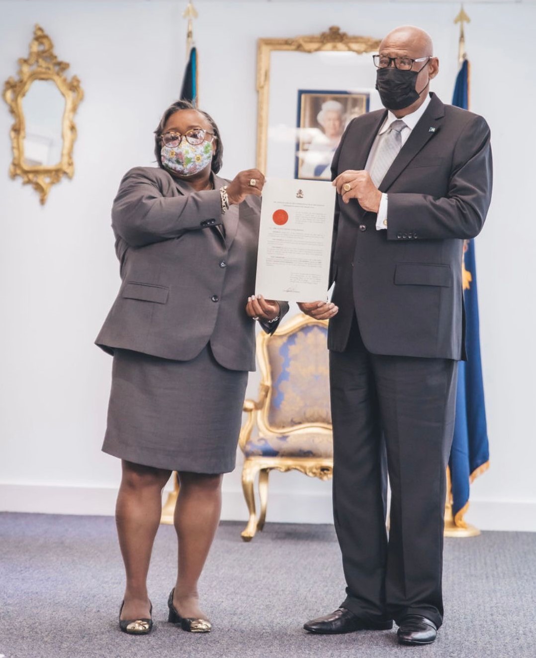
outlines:
[[268, 178], [262, 189], [255, 292], [265, 299], [326, 299], [336, 189]]

